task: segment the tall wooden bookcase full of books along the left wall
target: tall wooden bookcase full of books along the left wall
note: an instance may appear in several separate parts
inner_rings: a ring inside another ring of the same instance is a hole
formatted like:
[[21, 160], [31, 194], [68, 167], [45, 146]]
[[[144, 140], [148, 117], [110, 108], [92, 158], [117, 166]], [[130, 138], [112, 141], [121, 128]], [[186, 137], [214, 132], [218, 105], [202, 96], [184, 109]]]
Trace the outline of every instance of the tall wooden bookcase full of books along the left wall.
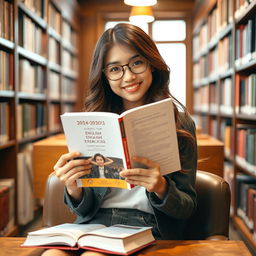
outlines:
[[0, 236], [33, 218], [32, 184], [22, 182], [33, 175], [32, 143], [59, 133], [59, 115], [75, 110], [78, 14], [75, 1], [0, 0], [0, 186], [15, 184], [12, 221]]

